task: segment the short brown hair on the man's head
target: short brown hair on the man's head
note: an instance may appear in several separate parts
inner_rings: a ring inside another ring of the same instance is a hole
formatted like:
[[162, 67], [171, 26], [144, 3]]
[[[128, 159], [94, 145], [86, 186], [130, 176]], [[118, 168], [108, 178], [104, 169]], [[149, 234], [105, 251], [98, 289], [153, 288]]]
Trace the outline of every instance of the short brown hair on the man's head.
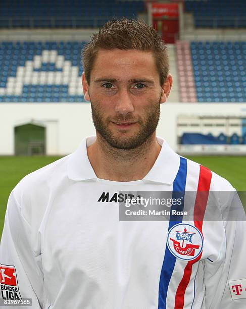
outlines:
[[82, 50], [82, 62], [87, 82], [99, 49], [138, 49], [153, 52], [160, 83], [163, 85], [169, 72], [167, 48], [156, 30], [143, 21], [122, 18], [108, 21], [95, 33]]

